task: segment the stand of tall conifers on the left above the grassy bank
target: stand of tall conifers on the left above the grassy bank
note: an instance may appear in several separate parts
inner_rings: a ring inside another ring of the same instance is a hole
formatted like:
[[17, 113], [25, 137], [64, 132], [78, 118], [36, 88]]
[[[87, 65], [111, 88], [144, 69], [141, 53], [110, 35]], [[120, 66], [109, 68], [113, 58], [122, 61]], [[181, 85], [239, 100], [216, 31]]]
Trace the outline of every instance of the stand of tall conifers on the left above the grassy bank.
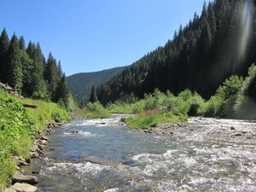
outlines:
[[9, 40], [5, 29], [0, 37], [0, 81], [15, 88], [22, 96], [59, 102], [68, 107], [72, 99], [61, 62], [49, 53], [44, 58], [40, 44], [29, 42], [15, 33]]

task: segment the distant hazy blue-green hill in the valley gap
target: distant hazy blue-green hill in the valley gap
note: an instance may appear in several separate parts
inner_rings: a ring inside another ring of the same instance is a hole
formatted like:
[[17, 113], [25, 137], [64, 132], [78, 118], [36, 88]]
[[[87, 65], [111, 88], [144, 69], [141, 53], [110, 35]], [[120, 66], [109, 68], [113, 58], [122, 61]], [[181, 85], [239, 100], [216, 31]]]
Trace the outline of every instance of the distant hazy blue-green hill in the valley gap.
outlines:
[[77, 73], [67, 77], [70, 91], [78, 102], [87, 102], [93, 85], [103, 84], [114, 75], [121, 73], [125, 67], [115, 67], [94, 73]]

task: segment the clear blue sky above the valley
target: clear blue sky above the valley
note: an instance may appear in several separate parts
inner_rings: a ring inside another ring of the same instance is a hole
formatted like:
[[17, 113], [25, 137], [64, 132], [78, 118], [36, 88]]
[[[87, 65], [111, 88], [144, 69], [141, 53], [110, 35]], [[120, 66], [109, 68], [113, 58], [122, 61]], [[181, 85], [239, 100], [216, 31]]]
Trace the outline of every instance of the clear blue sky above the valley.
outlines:
[[[208, 0], [206, 1], [208, 2]], [[39, 42], [63, 71], [130, 65], [201, 15], [204, 0], [1, 0], [0, 30]]]

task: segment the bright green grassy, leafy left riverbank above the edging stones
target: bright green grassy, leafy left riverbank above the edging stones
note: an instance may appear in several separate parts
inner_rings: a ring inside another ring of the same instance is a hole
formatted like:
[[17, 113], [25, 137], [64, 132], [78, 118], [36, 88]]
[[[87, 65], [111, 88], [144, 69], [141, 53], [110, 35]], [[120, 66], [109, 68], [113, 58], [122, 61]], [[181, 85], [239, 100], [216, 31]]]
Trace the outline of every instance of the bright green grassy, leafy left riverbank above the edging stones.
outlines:
[[[23, 104], [38, 108], [24, 108]], [[0, 191], [15, 173], [15, 156], [29, 157], [37, 131], [55, 120], [69, 120], [67, 112], [55, 103], [17, 99], [0, 89]]]

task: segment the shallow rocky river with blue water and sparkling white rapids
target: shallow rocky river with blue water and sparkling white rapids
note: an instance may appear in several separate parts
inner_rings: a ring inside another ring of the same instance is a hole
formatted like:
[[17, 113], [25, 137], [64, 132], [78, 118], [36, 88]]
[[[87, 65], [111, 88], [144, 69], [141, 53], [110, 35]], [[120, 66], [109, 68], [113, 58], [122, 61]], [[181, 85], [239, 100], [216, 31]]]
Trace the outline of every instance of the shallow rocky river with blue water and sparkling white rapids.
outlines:
[[38, 191], [256, 191], [256, 123], [190, 118], [189, 125], [127, 128], [122, 115], [74, 120], [49, 137], [23, 172]]

